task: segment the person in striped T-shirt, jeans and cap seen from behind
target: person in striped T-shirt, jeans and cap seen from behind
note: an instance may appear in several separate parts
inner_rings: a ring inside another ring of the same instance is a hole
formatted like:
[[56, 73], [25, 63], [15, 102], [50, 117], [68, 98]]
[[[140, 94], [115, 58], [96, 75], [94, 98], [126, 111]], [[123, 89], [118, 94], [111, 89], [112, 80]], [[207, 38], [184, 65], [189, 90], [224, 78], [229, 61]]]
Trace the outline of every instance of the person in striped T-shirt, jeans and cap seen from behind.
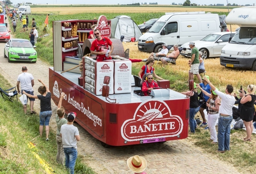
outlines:
[[67, 124], [63, 124], [60, 131], [66, 158], [65, 166], [69, 168], [70, 174], [74, 174], [77, 160], [77, 141], [80, 140], [78, 129], [73, 125], [76, 115], [75, 112], [70, 112], [67, 116]]

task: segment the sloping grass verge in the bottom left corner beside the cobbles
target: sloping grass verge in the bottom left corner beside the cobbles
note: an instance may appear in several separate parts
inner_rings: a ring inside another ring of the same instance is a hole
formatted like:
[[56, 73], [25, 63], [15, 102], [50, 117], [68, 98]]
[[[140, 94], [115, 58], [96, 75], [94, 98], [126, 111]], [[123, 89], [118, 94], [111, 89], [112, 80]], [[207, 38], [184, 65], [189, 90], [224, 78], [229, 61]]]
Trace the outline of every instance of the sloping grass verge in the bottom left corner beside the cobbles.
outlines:
[[[0, 75], [0, 86], [8, 89], [11, 84]], [[0, 98], [0, 173], [45, 173], [39, 161], [34, 157], [28, 143], [39, 135], [39, 115], [26, 115], [20, 102], [9, 102]], [[45, 132], [42, 137], [45, 137]], [[67, 174], [65, 166], [56, 162], [57, 144], [55, 132], [50, 131], [50, 141], [36, 138], [36, 153], [48, 162], [55, 173]], [[79, 155], [75, 173], [93, 174], [92, 168], [81, 161]]]

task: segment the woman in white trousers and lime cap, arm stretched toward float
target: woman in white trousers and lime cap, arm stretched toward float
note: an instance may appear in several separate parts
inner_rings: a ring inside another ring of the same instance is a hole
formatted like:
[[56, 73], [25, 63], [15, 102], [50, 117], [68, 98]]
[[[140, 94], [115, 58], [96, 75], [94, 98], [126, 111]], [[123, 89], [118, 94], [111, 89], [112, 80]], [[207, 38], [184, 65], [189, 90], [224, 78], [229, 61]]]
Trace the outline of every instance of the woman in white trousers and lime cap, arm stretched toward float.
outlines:
[[[220, 102], [220, 97], [214, 92], [212, 91], [212, 89], [210, 90], [211, 93], [209, 94], [207, 91], [203, 90], [199, 84], [197, 84], [197, 87], [208, 97], [211, 97], [210, 103], [206, 103], [206, 106], [209, 109], [208, 112], [208, 126], [209, 126], [209, 130], [210, 130], [210, 141], [212, 141], [212, 144], [216, 144], [217, 143], [217, 131], [215, 128], [215, 124], [217, 119], [219, 118], [219, 109], [220, 109], [220, 105], [218, 105], [218, 102]], [[218, 90], [218, 88], [216, 88]]]

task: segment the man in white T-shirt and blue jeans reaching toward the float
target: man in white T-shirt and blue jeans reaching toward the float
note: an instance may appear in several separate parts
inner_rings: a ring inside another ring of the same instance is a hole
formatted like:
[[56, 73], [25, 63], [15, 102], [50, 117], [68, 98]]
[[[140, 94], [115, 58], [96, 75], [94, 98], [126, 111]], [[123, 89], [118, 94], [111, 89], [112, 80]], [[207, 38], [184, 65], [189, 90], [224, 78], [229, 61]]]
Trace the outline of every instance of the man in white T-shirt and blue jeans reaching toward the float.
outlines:
[[[232, 107], [235, 104], [235, 97], [232, 96], [234, 90], [232, 85], [227, 85], [225, 93], [222, 93], [216, 89], [216, 87], [208, 80], [207, 77], [203, 77], [205, 81], [210, 85], [212, 91], [214, 91], [222, 99], [219, 109], [220, 117], [218, 120], [218, 151], [224, 153], [229, 151], [230, 148], [230, 124], [233, 120]], [[218, 102], [218, 104], [220, 104]]]

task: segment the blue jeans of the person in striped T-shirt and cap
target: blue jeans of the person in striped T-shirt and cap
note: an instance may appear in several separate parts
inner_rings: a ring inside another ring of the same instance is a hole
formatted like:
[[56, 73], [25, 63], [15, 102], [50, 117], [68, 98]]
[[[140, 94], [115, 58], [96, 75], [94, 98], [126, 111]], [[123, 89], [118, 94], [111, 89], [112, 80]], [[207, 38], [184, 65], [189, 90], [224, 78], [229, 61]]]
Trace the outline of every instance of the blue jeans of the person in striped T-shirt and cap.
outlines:
[[77, 160], [77, 149], [74, 147], [64, 147], [65, 166], [69, 168], [69, 173], [74, 174], [74, 168]]

